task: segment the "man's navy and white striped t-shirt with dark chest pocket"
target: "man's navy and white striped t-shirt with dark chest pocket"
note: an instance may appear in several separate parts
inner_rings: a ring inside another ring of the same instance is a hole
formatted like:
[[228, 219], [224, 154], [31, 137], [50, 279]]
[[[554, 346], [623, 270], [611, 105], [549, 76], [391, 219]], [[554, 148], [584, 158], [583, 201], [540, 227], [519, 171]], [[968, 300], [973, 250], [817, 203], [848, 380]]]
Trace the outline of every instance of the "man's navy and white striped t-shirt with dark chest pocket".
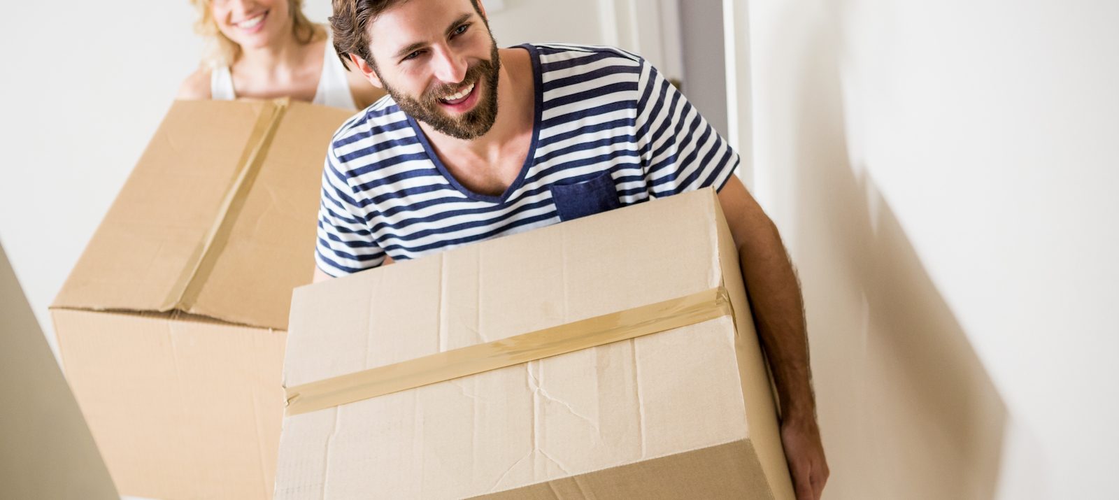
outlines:
[[739, 154], [645, 59], [608, 47], [523, 45], [536, 110], [520, 174], [500, 196], [463, 187], [416, 121], [385, 97], [335, 133], [316, 263], [331, 276], [708, 186]]

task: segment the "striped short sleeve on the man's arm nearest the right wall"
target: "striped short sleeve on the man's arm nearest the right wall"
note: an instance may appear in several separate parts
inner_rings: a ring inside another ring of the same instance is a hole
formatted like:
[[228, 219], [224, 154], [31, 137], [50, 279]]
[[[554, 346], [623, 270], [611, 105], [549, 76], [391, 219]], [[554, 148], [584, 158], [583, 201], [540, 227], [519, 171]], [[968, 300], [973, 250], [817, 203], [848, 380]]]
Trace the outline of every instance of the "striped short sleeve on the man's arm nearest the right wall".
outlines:
[[673, 84], [641, 59], [637, 134], [649, 194], [722, 189], [740, 157]]

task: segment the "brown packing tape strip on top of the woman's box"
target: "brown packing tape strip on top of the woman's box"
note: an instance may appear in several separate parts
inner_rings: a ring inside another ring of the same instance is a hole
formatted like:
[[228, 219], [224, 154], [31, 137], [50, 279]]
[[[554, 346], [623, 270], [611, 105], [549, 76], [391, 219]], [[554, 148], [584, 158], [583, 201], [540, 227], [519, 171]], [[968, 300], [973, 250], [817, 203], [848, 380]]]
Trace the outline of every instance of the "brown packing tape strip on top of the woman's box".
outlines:
[[205, 276], [214, 266], [214, 260], [217, 258], [219, 249], [229, 237], [229, 232], [236, 219], [235, 215], [244, 205], [248, 189], [264, 163], [264, 158], [267, 157], [272, 138], [275, 135], [290, 102], [288, 97], [283, 97], [263, 103], [264, 109], [257, 116], [248, 141], [245, 143], [245, 150], [237, 160], [237, 177], [234, 178], [228, 191], [226, 191], [206, 237], [191, 253], [188, 265], [182, 268], [182, 274], [176, 280], [175, 286], [171, 287], [167, 300], [163, 301], [161, 311], [190, 310], [203, 283], [206, 282]]

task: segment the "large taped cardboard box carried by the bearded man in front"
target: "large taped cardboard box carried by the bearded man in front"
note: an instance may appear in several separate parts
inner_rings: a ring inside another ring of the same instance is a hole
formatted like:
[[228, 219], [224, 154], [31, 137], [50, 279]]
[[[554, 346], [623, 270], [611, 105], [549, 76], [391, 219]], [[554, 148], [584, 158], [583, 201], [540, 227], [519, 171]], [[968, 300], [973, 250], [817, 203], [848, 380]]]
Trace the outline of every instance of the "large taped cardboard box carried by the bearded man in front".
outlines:
[[278, 499], [793, 498], [713, 190], [297, 289], [286, 352]]

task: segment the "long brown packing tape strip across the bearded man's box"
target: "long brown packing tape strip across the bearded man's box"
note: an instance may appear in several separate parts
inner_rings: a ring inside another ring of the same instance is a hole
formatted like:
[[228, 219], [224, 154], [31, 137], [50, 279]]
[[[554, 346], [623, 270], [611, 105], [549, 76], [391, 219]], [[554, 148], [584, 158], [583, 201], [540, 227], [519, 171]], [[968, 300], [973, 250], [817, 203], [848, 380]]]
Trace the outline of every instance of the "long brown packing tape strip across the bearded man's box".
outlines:
[[655, 304], [290, 387], [286, 414], [316, 412], [733, 314], [726, 289], [718, 286]]

